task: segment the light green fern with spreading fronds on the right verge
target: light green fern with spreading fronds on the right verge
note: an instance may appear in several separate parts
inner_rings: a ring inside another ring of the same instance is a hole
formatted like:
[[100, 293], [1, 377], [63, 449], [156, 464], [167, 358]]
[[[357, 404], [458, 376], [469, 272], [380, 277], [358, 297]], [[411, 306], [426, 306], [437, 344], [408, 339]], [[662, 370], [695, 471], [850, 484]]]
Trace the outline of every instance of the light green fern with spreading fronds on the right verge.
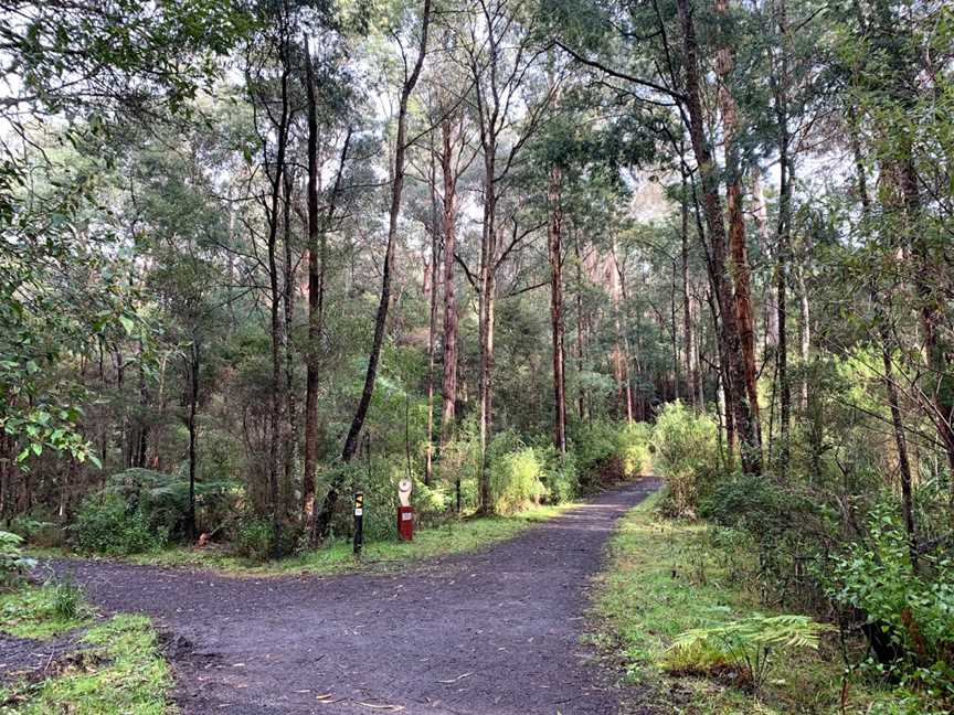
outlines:
[[757, 692], [765, 683], [773, 654], [793, 649], [817, 650], [826, 630], [831, 627], [807, 616], [753, 613], [743, 620], [680, 633], [670, 647], [672, 655], [667, 654], [674, 658], [667, 666], [686, 668], [687, 657], [689, 662], [699, 658], [701, 670], [710, 669], [716, 662], [729, 662], [740, 670], [741, 682]]

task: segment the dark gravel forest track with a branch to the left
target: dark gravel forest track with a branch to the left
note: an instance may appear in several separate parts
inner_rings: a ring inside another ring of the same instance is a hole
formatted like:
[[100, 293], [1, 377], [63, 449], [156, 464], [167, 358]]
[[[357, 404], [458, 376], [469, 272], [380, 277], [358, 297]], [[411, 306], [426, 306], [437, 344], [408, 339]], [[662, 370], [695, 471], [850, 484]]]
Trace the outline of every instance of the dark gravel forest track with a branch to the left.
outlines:
[[608, 715], [619, 711], [618, 673], [580, 642], [586, 590], [616, 520], [658, 483], [627, 484], [510, 541], [396, 574], [54, 567], [103, 610], [152, 617], [187, 715]]

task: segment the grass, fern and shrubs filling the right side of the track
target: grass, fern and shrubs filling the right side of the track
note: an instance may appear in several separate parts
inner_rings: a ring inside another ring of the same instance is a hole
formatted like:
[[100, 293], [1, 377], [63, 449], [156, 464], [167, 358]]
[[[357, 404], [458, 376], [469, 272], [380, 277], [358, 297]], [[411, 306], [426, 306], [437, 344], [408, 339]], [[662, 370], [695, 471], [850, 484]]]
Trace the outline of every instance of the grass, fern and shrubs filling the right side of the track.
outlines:
[[666, 485], [623, 520], [594, 600], [628, 682], [671, 713], [951, 712], [950, 562], [912, 568], [889, 492], [833, 547], [823, 485], [720, 471], [704, 415], [667, 407], [653, 445]]

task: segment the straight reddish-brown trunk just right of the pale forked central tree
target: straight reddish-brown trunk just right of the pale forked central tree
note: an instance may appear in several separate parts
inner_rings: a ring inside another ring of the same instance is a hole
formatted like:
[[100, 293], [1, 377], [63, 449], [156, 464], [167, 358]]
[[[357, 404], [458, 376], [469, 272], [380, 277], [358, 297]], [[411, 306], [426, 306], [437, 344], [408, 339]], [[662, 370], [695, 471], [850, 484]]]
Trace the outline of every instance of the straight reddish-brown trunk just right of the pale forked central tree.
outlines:
[[566, 380], [563, 330], [563, 245], [561, 207], [562, 172], [550, 170], [550, 223], [547, 245], [550, 254], [550, 324], [553, 348], [553, 444], [561, 455], [566, 453]]

